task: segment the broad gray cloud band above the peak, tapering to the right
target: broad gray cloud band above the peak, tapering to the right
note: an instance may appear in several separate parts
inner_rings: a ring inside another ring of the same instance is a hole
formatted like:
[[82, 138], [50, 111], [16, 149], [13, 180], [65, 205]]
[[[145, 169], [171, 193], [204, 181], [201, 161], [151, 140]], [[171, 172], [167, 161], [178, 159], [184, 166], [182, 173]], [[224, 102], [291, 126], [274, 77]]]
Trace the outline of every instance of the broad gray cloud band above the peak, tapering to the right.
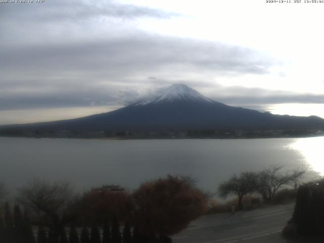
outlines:
[[38, 73], [104, 70], [119, 75], [168, 66], [179, 71], [198, 68], [221, 74], [264, 74], [277, 64], [247, 48], [144, 33], [101, 41], [13, 47], [0, 50], [0, 54], [3, 69]]

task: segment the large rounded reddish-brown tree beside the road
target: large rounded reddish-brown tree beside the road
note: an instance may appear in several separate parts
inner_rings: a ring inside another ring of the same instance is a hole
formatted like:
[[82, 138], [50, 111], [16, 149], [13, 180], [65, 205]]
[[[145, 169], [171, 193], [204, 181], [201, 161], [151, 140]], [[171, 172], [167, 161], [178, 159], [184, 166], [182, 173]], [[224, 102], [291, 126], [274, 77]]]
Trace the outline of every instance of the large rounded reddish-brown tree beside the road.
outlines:
[[159, 238], [185, 229], [207, 208], [206, 195], [188, 178], [168, 176], [143, 183], [133, 194], [134, 223], [148, 237]]

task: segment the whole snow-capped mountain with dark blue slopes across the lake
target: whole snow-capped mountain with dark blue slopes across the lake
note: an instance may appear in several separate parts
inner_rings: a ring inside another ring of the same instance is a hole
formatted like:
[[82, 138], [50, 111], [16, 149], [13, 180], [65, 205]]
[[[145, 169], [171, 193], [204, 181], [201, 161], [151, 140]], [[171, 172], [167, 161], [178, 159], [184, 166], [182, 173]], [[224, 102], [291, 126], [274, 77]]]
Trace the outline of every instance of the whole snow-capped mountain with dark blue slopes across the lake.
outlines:
[[317, 116], [274, 115], [228, 106], [186, 85], [172, 85], [132, 105], [81, 118], [2, 126], [6, 129], [67, 131], [323, 130]]

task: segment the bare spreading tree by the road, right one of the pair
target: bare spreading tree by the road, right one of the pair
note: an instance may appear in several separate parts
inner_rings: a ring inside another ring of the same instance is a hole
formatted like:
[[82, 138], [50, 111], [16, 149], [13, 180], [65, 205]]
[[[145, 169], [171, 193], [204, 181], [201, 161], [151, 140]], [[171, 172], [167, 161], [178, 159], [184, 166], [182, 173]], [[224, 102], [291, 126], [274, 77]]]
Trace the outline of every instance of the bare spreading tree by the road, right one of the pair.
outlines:
[[299, 169], [280, 173], [282, 168], [284, 166], [277, 164], [258, 173], [257, 192], [262, 195], [265, 203], [270, 203], [282, 186], [295, 184], [305, 173]]

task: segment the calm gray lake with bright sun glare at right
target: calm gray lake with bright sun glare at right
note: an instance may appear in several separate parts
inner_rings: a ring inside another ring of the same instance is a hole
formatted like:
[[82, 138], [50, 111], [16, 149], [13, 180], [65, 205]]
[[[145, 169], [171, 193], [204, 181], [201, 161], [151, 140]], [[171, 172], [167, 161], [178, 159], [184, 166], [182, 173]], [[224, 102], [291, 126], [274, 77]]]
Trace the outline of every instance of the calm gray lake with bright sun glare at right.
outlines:
[[76, 189], [119, 184], [128, 189], [168, 174], [192, 175], [216, 190], [233, 173], [311, 166], [324, 173], [324, 137], [301, 139], [86, 140], [0, 137], [0, 181], [14, 191], [39, 177]]

